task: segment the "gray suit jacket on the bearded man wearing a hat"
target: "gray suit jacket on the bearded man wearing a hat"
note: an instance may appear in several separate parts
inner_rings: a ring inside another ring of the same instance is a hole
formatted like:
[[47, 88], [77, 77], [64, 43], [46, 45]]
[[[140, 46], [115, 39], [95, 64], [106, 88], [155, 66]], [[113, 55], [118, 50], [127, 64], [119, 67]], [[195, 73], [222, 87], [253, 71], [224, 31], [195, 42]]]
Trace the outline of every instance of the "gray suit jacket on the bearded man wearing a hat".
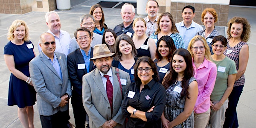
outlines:
[[[111, 116], [110, 104], [105, 87], [102, 82], [99, 70], [96, 68], [90, 73], [83, 76], [83, 105], [89, 116], [90, 128], [101, 128], [101, 126], [110, 119], [116, 123], [115, 128], [124, 128], [125, 117], [122, 114], [122, 94], [119, 81], [115, 75], [115, 68], [112, 67], [113, 73], [113, 114]], [[119, 70], [120, 79], [126, 79], [126, 86], [122, 86], [122, 92], [126, 90], [130, 83], [130, 76], [125, 71]]]

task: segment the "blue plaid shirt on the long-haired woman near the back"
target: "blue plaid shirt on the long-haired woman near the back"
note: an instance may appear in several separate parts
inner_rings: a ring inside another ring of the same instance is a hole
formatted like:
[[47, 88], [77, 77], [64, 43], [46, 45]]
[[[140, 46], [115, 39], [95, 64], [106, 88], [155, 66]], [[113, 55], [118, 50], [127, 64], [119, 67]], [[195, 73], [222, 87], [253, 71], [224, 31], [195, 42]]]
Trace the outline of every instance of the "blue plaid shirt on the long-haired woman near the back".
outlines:
[[[156, 46], [157, 46], [157, 41], [158, 41], [158, 36], [157, 35], [155, 35], [155, 32], [153, 32], [152, 35], [149, 37], [149, 38], [152, 38], [155, 41]], [[183, 39], [182, 39], [182, 37], [179, 33], [177, 33], [177, 32], [172, 33], [170, 35], [170, 37], [172, 38], [176, 49], [184, 48], [184, 41], [183, 41]]]

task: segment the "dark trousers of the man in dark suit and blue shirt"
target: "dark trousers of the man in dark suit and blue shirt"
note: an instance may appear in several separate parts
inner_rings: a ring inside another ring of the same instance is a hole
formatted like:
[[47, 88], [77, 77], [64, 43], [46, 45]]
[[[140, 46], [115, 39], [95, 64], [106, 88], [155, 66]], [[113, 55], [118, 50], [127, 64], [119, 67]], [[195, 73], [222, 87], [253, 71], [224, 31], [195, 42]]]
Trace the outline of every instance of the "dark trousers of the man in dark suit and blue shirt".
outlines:
[[73, 107], [76, 128], [85, 128], [86, 111], [84, 110], [82, 96], [73, 93], [71, 104]]

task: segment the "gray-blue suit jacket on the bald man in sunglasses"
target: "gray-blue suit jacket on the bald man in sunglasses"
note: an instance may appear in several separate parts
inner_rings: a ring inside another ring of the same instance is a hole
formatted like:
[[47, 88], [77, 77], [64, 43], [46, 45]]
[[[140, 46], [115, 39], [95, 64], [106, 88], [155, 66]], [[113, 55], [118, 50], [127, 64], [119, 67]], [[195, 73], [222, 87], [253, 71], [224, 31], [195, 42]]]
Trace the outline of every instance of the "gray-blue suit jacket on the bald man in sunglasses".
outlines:
[[64, 107], [58, 107], [58, 105], [61, 102], [61, 96], [65, 93], [68, 94], [69, 98], [72, 95], [66, 55], [59, 52], [54, 53], [61, 67], [62, 80], [42, 52], [29, 62], [29, 73], [37, 92], [38, 112], [44, 116], [53, 115], [58, 111], [67, 111], [68, 104]]

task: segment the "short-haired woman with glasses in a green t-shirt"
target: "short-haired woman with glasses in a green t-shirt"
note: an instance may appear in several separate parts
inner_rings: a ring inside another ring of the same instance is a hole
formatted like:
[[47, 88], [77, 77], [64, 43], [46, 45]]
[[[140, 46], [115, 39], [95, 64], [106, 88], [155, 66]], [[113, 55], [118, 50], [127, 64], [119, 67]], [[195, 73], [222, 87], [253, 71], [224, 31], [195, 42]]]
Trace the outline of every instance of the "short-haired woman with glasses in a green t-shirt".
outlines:
[[210, 96], [211, 99], [211, 128], [221, 128], [221, 120], [227, 109], [228, 96], [230, 95], [236, 79], [235, 62], [224, 55], [227, 48], [227, 39], [218, 35], [212, 40], [211, 61], [217, 66], [217, 78]]

